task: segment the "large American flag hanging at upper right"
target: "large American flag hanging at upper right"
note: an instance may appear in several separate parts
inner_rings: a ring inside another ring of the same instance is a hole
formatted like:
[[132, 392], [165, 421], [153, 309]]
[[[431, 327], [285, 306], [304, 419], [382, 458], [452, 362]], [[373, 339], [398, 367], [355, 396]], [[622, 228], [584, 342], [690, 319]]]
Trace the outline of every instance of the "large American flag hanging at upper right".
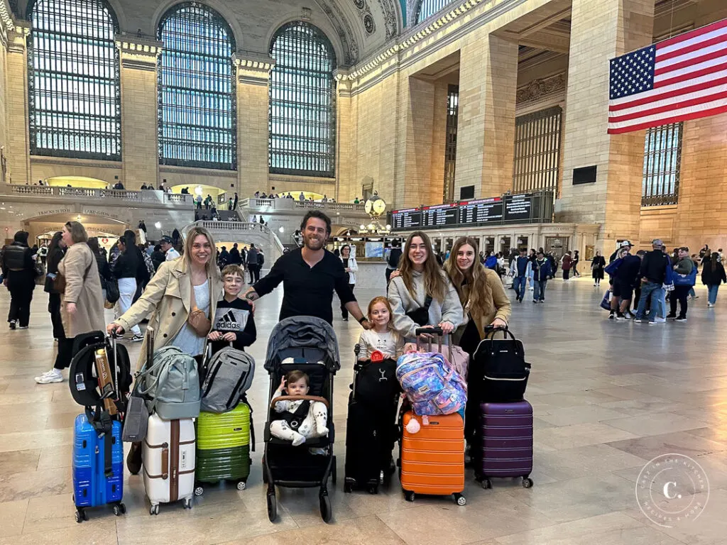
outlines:
[[608, 134], [727, 112], [727, 19], [611, 59]]

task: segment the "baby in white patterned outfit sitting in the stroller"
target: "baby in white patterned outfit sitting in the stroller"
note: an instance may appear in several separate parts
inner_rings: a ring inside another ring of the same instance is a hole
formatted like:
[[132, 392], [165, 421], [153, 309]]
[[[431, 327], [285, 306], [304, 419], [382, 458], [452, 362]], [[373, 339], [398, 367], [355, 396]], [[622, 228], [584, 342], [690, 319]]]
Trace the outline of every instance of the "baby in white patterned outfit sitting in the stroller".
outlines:
[[[281, 379], [280, 386], [273, 394], [273, 401], [281, 397], [284, 390], [287, 395], [308, 395], [308, 384], [310, 378], [303, 371], [290, 371]], [[328, 435], [328, 408], [320, 401], [281, 400], [275, 403], [275, 411], [281, 419], [270, 422], [270, 433], [278, 439], [292, 441], [294, 447], [302, 445], [310, 437]], [[318, 449], [314, 450], [314, 454], [320, 453]]]

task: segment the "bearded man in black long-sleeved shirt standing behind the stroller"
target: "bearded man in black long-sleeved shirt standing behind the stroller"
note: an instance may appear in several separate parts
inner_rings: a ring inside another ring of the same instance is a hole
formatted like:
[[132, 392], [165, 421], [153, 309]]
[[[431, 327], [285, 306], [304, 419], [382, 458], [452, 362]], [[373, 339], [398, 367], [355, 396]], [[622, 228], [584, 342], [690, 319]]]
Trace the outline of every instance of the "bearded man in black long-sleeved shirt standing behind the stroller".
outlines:
[[348, 273], [324, 246], [331, 234], [331, 220], [318, 210], [305, 214], [300, 225], [303, 247], [280, 257], [270, 269], [246, 292], [247, 299], [254, 301], [269, 294], [283, 283], [283, 304], [280, 320], [291, 316], [316, 316], [333, 323], [333, 291], [335, 290], [348, 312], [369, 328], [369, 322], [358, 307], [356, 297], [348, 286]]

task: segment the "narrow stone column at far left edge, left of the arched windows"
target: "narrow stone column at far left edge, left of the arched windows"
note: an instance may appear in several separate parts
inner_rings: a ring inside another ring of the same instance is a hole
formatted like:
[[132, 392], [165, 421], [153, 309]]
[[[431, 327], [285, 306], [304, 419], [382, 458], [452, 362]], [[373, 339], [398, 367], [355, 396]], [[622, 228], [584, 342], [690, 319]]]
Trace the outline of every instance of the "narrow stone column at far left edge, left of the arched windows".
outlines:
[[28, 48], [30, 23], [7, 32], [7, 156], [8, 180], [30, 183], [31, 155], [28, 130]]

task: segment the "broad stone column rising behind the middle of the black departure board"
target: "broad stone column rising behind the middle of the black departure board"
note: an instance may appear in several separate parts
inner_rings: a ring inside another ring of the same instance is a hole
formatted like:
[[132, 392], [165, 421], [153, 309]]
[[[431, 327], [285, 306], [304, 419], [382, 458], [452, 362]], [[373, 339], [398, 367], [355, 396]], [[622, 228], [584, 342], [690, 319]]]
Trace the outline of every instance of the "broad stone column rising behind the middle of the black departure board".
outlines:
[[490, 34], [462, 47], [454, 199], [475, 186], [475, 198], [513, 184], [518, 44]]

